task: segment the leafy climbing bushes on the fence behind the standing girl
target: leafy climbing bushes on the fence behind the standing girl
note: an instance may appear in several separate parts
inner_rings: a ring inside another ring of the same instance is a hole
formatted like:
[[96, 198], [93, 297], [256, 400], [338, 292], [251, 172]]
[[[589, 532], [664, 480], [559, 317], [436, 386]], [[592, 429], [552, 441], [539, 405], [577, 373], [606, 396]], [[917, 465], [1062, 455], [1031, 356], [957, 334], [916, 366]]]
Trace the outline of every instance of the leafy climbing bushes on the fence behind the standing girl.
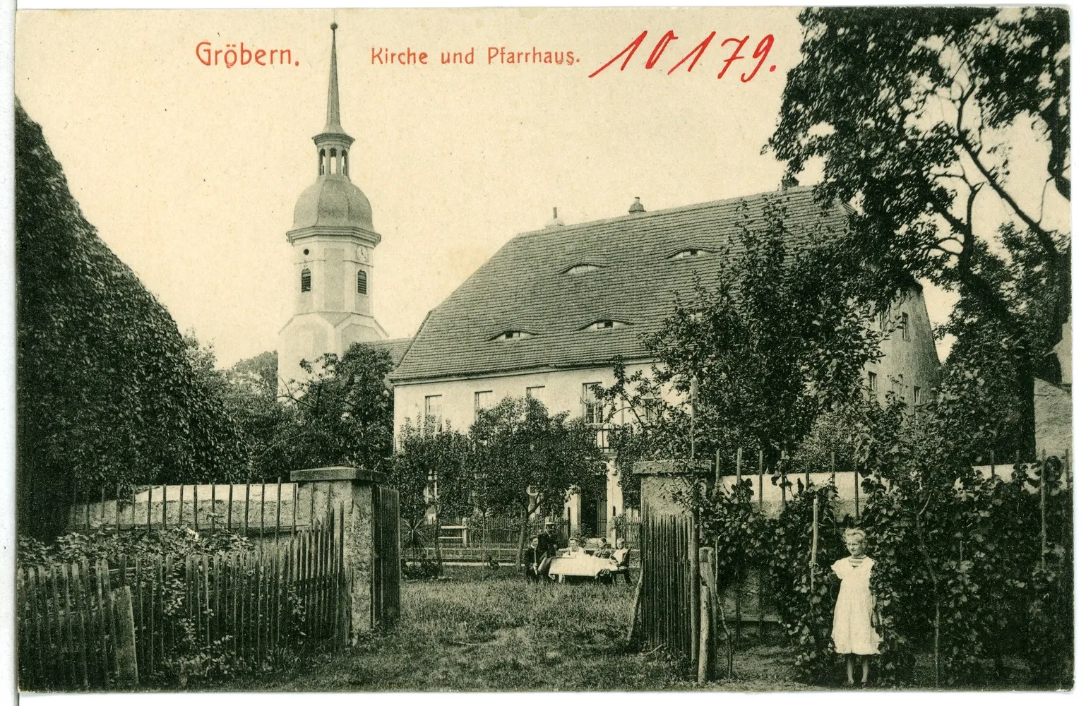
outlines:
[[[1014, 656], [1026, 660], [1037, 685], [1070, 686], [1073, 584], [1060, 538], [1070, 504], [1060, 464], [1019, 465], [1008, 482], [964, 467], [946, 476], [949, 482], [910, 487], [911, 463], [924, 465], [929, 481], [948, 463], [930, 451], [923, 443], [902, 444], [893, 479], [869, 474], [863, 481], [868, 500], [858, 526], [867, 531], [875, 559], [871, 588], [881, 623], [883, 683], [910, 683], [918, 655], [935, 653], [938, 685], [999, 683], [1005, 658]], [[812, 584], [816, 497], [819, 546]], [[719, 580], [729, 585], [763, 568], [766, 595], [781, 615], [797, 671], [808, 682], [823, 682], [836, 664], [831, 632], [837, 581], [829, 566], [847, 554], [842, 532], [855, 518], [835, 516], [833, 487], [801, 489], [779, 517], [762, 515], [750, 499], [746, 481], [700, 500], [703, 537], [716, 538], [719, 546]]]

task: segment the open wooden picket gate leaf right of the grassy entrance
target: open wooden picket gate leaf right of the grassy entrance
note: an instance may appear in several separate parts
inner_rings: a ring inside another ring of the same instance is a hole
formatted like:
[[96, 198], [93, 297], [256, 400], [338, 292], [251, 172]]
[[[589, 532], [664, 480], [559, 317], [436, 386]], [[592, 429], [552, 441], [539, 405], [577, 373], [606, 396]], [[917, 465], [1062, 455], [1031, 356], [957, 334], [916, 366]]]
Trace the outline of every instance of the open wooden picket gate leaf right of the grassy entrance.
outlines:
[[690, 517], [645, 513], [641, 520], [641, 579], [635, 634], [649, 648], [691, 659]]

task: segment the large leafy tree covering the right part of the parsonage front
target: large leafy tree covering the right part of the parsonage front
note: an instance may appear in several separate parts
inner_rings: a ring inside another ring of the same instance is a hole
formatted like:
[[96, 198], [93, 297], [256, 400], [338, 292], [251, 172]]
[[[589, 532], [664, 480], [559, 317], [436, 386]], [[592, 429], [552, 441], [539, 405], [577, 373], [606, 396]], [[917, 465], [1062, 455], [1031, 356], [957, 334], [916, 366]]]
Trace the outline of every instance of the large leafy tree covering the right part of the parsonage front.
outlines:
[[[831, 234], [809, 241], [787, 232], [786, 205], [766, 199], [761, 223], [743, 227], [722, 254], [716, 287], [675, 301], [647, 348], [648, 375], [616, 368], [604, 391], [613, 409], [632, 409], [639, 430], [613, 438], [620, 463], [632, 456], [690, 455], [690, 413], [668, 404], [668, 388], [698, 380], [696, 438], [715, 447], [792, 454], [819, 415], [860, 395], [863, 366], [883, 333], [871, 326], [859, 281]], [[659, 409], [643, 418], [648, 402]], [[660, 413], [662, 412], [662, 413]]]

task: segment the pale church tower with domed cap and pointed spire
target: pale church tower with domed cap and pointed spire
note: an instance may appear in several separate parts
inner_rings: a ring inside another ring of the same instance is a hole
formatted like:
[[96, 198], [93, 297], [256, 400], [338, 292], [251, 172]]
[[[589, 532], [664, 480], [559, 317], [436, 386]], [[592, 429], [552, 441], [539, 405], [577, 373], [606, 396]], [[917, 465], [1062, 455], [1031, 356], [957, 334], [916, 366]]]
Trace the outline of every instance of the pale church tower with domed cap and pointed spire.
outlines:
[[280, 387], [303, 377], [302, 360], [342, 355], [352, 343], [388, 338], [372, 311], [377, 282], [370, 263], [381, 236], [374, 230], [369, 200], [351, 182], [354, 138], [340, 125], [336, 28], [333, 23], [327, 119], [313, 138], [317, 179], [299, 197], [287, 231], [295, 303], [294, 315], [279, 331]]

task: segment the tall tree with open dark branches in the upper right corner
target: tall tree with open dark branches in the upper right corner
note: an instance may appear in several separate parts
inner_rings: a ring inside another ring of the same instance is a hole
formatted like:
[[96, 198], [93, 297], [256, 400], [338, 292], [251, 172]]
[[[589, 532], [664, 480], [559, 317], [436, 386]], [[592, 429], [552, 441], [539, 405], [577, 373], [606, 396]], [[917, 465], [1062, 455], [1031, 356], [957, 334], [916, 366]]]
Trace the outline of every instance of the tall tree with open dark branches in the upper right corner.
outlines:
[[803, 59], [768, 147], [790, 175], [820, 162], [823, 196], [857, 207], [848, 249], [883, 301], [930, 278], [961, 294], [959, 333], [998, 325], [1016, 446], [1032, 455], [1033, 378], [1070, 311], [1066, 10], [820, 8], [799, 21]]

